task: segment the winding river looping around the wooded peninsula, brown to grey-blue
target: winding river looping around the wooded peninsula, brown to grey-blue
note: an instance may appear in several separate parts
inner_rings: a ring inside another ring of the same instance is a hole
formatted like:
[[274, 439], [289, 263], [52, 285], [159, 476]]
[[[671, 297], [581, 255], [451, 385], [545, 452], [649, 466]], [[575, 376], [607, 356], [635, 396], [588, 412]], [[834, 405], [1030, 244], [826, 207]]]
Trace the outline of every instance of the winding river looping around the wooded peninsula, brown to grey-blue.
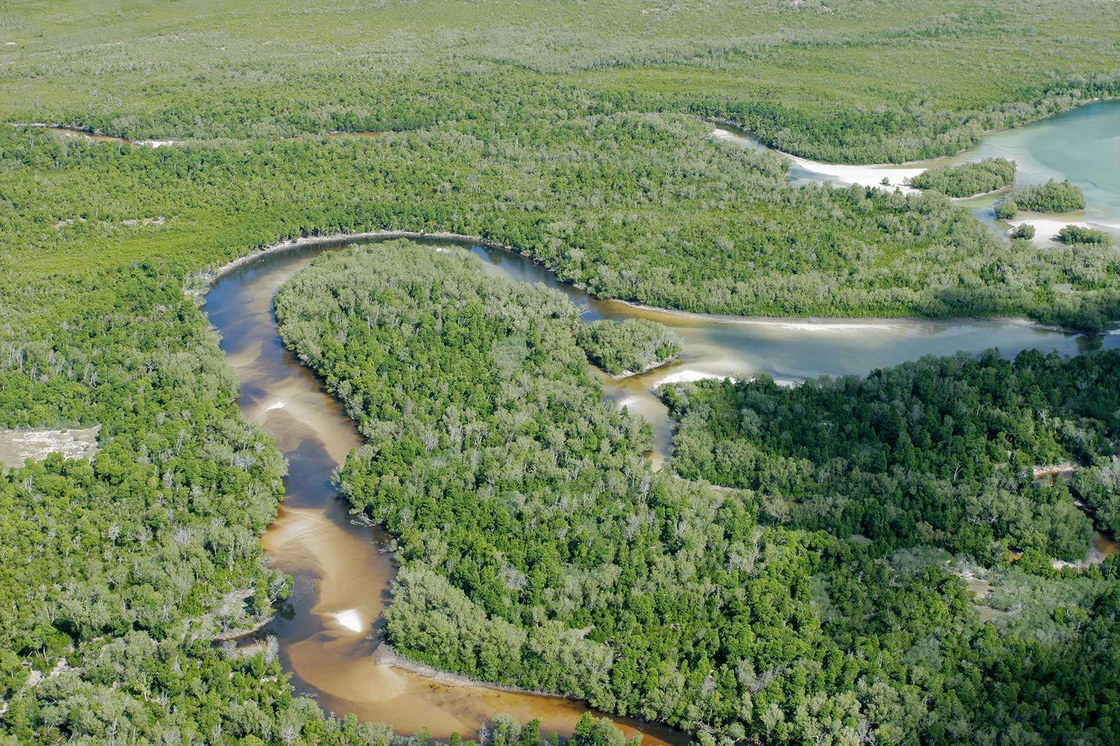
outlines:
[[[666, 381], [766, 372], [796, 382], [866, 373], [925, 354], [996, 346], [1007, 355], [1028, 347], [1074, 354], [1083, 343], [1083, 337], [1020, 320], [814, 323], [684, 316], [591, 298], [531, 260], [498, 249], [470, 241], [421, 242], [459, 245], [478, 255], [487, 272], [557, 288], [585, 320], [653, 318], [681, 334], [684, 354], [678, 363], [623, 381], [603, 376], [610, 401], [653, 423], [656, 465], [669, 453], [672, 430], [652, 390]], [[342, 407], [283, 347], [272, 314], [272, 298], [284, 280], [316, 255], [348, 243], [325, 240], [261, 254], [223, 274], [206, 296], [205, 311], [241, 381], [241, 411], [276, 437], [290, 464], [283, 505], [262, 544], [270, 562], [295, 577], [296, 587], [267, 632], [278, 637], [297, 691], [316, 696], [336, 714], [389, 722], [404, 734], [424, 727], [437, 737], [452, 731], [469, 737], [495, 715], [508, 712], [522, 721], [538, 718], [543, 729], [568, 735], [587, 710], [580, 702], [431, 679], [376, 659], [380, 618], [395, 574], [389, 540], [379, 529], [354, 522], [330, 484], [334, 468], [360, 445], [360, 437]], [[1105, 344], [1113, 339], [1107, 337]], [[688, 740], [662, 726], [615, 721], [627, 734], [641, 733], [644, 744]]]

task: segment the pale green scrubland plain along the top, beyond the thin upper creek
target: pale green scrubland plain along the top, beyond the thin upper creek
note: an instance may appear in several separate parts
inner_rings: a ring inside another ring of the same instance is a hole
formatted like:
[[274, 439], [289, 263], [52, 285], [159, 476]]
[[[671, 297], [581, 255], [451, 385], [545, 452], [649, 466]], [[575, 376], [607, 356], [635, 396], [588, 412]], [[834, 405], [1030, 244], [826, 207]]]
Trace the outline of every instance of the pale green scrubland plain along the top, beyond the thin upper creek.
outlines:
[[599, 113], [690, 110], [787, 152], [865, 164], [951, 155], [984, 130], [1116, 95], [1104, 60], [1120, 24], [1098, 0], [422, 0], [362, 13], [264, 0], [248, 16], [200, 0], [122, 16], [13, 6], [4, 21], [9, 121], [134, 139], [426, 129], [536, 82]]

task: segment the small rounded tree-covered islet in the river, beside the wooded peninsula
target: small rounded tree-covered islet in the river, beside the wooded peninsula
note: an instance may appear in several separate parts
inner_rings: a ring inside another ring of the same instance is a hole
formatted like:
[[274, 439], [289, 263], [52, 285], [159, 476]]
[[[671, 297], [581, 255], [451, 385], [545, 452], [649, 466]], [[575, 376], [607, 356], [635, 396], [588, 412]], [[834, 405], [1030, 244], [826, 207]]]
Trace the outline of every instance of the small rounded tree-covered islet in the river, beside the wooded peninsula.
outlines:
[[640, 373], [676, 360], [681, 335], [664, 324], [644, 318], [601, 319], [582, 324], [576, 343], [607, 373]]

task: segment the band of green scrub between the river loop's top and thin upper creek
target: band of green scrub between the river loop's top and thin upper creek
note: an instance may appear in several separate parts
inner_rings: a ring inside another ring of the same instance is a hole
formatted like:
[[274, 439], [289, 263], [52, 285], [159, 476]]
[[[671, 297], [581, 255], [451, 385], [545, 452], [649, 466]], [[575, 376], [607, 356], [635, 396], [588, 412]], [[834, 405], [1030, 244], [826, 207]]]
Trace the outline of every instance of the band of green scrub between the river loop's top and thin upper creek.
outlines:
[[[0, 130], [3, 236], [22, 246], [3, 262], [162, 257], [195, 270], [291, 235], [450, 230], [515, 245], [600, 297], [685, 310], [1027, 314], [1085, 328], [1120, 316], [1108, 257], [1008, 244], [937, 194], [793, 187], [780, 159], [707, 132], [681, 115], [520, 108], [454, 129], [252, 148]], [[78, 188], [90, 180], [96, 190]], [[168, 218], [125, 223], [152, 215]], [[1051, 293], [1057, 283], [1070, 292]]]

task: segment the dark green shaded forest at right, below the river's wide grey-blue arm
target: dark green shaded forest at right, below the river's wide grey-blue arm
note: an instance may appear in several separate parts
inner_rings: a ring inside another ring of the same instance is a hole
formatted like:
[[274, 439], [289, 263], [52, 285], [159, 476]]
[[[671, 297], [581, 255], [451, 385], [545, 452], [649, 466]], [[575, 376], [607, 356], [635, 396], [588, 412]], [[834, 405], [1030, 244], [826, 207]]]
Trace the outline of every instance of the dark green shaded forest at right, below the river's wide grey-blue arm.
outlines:
[[794, 389], [760, 376], [662, 392], [680, 421], [674, 468], [792, 497], [795, 525], [978, 558], [1001, 544], [1076, 560], [1091, 522], [1030, 467], [1117, 450], [1118, 374], [1117, 352], [1023, 352], [927, 357]]

